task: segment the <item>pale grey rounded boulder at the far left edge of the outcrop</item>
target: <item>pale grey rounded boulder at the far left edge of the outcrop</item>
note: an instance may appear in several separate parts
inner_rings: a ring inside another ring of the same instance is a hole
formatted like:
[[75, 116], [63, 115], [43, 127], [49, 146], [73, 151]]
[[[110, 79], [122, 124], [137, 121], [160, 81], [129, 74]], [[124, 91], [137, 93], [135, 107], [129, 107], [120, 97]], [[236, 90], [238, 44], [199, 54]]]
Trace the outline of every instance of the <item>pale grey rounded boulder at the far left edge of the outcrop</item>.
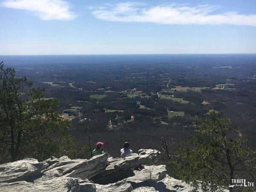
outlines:
[[41, 177], [41, 171], [47, 166], [48, 163], [38, 163], [38, 160], [32, 158], [2, 164], [0, 165], [0, 183], [32, 181]]

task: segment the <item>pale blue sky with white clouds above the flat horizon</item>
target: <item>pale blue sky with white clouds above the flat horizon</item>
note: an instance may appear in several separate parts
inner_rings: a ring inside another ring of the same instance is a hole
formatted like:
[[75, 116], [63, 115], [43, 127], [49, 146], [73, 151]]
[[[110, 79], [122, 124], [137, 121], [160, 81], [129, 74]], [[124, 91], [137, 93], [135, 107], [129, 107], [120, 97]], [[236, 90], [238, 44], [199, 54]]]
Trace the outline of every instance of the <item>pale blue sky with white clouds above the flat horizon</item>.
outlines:
[[256, 0], [0, 0], [0, 55], [256, 53]]

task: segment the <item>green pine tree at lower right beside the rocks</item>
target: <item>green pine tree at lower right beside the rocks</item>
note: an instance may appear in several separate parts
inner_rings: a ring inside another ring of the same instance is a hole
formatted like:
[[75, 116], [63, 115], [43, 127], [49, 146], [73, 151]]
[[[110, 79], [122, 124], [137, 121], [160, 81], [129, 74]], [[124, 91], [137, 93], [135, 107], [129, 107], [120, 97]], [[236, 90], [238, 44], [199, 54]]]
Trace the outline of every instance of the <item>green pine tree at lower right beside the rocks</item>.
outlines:
[[232, 179], [244, 175], [255, 182], [256, 151], [248, 148], [246, 140], [236, 137], [229, 118], [211, 113], [196, 125], [198, 134], [189, 140], [191, 148], [170, 158], [170, 167], [180, 179], [204, 191], [241, 191], [230, 186]]

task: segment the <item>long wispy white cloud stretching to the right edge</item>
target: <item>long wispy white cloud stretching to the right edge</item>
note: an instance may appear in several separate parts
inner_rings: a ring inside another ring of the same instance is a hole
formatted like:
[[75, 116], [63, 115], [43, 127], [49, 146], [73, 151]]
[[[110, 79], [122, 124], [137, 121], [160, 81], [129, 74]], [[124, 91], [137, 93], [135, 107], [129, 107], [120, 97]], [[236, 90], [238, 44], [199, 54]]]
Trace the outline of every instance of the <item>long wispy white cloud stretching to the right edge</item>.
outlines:
[[151, 22], [161, 24], [198, 25], [248, 25], [256, 26], [256, 14], [242, 15], [237, 12], [214, 13], [218, 6], [187, 4], [145, 7], [143, 4], [127, 2], [104, 9], [94, 9], [92, 14], [101, 20], [122, 22]]

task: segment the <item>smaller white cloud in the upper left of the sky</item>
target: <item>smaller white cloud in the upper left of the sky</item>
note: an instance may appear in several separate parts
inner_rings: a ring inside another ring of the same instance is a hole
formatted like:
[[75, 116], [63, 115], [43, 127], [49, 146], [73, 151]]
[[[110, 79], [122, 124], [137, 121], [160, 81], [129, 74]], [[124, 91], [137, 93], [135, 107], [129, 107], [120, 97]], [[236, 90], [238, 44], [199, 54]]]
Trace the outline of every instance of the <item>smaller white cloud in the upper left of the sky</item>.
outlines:
[[5, 0], [4, 7], [23, 9], [39, 16], [42, 20], [73, 20], [70, 3], [63, 0]]

